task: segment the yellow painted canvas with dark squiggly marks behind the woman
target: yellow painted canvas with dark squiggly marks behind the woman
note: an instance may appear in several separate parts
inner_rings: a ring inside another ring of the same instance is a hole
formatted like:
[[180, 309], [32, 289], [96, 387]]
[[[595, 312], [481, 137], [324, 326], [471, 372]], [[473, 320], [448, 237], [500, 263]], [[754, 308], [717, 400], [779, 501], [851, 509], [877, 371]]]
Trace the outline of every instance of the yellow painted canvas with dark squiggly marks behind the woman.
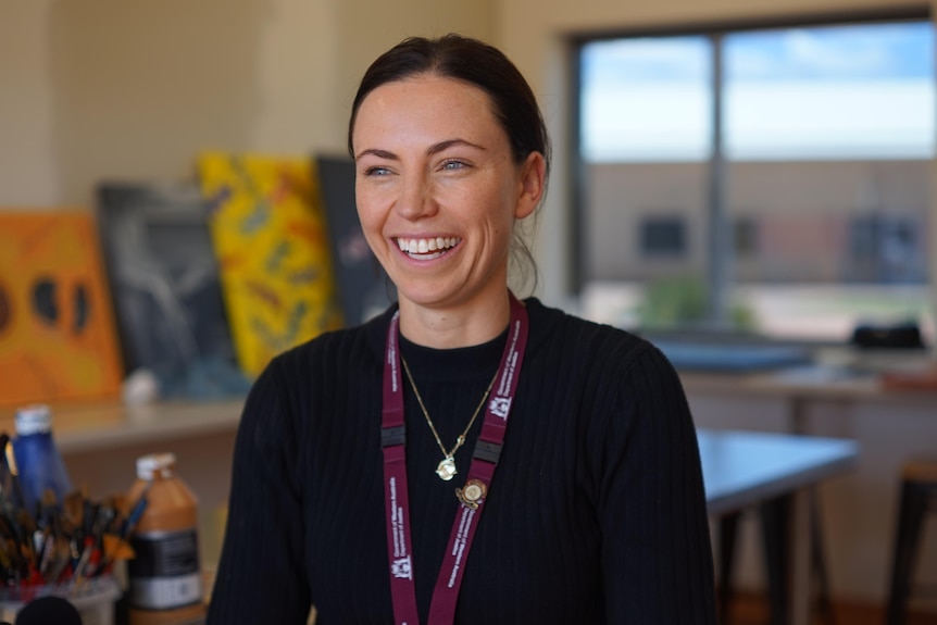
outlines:
[[235, 352], [254, 376], [342, 324], [316, 173], [304, 158], [220, 152], [198, 170]]

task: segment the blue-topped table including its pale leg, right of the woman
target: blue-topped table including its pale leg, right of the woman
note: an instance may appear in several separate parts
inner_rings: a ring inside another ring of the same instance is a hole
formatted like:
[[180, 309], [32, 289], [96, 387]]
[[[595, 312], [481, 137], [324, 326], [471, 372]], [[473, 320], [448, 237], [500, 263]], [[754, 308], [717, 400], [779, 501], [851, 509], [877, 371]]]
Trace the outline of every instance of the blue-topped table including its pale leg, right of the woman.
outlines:
[[810, 622], [810, 489], [852, 467], [852, 440], [736, 430], [698, 430], [707, 509], [713, 516], [791, 496], [790, 613]]

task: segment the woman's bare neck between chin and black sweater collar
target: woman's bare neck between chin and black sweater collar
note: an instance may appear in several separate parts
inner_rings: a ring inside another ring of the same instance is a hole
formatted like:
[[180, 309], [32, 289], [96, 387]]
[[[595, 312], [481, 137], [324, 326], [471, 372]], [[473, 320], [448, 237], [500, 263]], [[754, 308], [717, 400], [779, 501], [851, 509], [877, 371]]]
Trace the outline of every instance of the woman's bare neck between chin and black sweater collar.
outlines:
[[504, 332], [511, 318], [508, 290], [484, 305], [455, 310], [429, 309], [400, 298], [400, 333], [408, 340], [435, 349], [482, 345]]

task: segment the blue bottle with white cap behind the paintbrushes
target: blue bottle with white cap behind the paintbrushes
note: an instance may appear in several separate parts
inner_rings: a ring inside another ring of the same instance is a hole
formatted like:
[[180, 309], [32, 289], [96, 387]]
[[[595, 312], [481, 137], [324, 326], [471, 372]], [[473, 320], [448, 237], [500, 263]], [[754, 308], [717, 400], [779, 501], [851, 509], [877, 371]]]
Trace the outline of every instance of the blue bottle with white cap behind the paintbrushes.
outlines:
[[16, 411], [16, 436], [13, 438], [23, 507], [36, 514], [47, 488], [55, 493], [59, 507], [72, 491], [65, 463], [52, 439], [52, 412], [48, 405], [28, 405]]

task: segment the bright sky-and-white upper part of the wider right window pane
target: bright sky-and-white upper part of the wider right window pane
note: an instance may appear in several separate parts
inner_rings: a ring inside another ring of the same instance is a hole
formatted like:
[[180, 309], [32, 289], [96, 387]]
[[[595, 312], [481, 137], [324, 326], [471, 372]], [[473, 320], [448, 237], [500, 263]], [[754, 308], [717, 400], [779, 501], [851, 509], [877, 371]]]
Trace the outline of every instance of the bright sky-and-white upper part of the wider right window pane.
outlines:
[[730, 159], [927, 159], [935, 153], [929, 23], [725, 38]]

